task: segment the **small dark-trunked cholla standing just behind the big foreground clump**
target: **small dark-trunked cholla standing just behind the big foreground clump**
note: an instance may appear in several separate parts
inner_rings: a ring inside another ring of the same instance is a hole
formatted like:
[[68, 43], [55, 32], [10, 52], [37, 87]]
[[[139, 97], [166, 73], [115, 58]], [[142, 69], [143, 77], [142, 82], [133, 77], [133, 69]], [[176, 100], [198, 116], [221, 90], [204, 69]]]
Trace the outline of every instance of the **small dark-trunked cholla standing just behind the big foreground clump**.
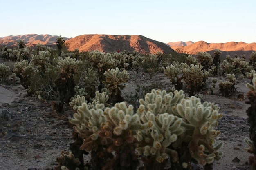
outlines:
[[108, 91], [112, 93], [111, 97], [113, 102], [121, 102], [121, 90], [123, 90], [126, 87], [126, 85], [121, 83], [128, 82], [129, 73], [127, 73], [126, 70], [119, 71], [119, 68], [116, 68], [105, 71], [104, 76], [106, 77], [103, 83], [105, 84], [105, 87], [108, 89]]

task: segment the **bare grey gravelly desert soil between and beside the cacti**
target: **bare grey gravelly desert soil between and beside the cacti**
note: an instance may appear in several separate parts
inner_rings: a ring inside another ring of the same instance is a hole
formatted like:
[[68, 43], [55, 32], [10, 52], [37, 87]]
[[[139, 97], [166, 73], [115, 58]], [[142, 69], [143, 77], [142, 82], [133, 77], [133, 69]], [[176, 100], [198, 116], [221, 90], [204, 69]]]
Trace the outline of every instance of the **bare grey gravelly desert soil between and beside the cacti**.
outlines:
[[[124, 98], [135, 94], [137, 84], [141, 87], [157, 83], [159, 88], [170, 87], [163, 73], [152, 77], [146, 73], [130, 73]], [[246, 115], [249, 105], [245, 104], [248, 82], [249, 79], [237, 80], [236, 93], [225, 98], [219, 92], [218, 83], [214, 95], [210, 95], [209, 77], [207, 87], [199, 92], [203, 94], [203, 101], [218, 104], [224, 115], [217, 128], [222, 133], [217, 142], [224, 143], [221, 148], [224, 155], [220, 161], [213, 162], [214, 170], [249, 170], [246, 161], [250, 154], [243, 150], [247, 147], [243, 139], [248, 137], [249, 128]], [[57, 166], [56, 157], [61, 150], [68, 150], [72, 129], [66, 120], [45, 117], [44, 113], [51, 111], [50, 106], [27, 97], [22, 89], [20, 85], [0, 84], [0, 170], [50, 170]], [[245, 99], [238, 99], [238, 95], [244, 95]], [[72, 116], [72, 110], [65, 114]]]

